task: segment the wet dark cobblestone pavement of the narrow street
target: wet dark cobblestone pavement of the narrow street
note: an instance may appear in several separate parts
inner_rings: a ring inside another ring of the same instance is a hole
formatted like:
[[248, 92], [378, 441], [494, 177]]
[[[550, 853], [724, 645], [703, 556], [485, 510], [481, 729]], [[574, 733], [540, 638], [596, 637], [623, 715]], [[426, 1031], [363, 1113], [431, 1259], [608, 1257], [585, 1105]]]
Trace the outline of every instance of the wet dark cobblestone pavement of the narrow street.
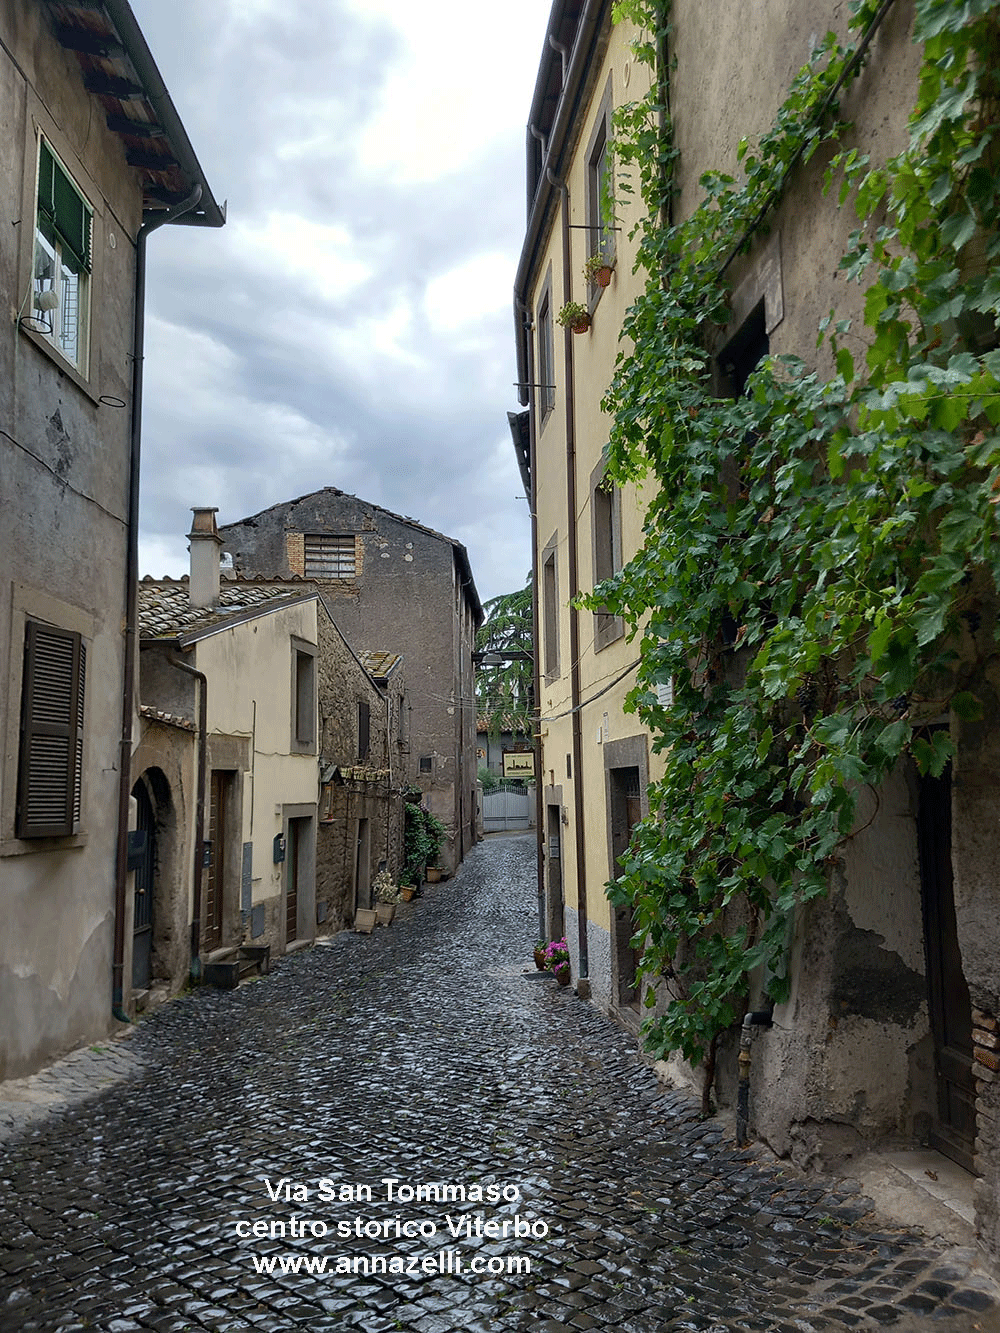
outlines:
[[388, 929], [173, 1001], [84, 1100], [101, 1044], [47, 1112], [0, 1088], [0, 1329], [1000, 1328], [972, 1252], [737, 1152], [525, 974], [532, 856], [491, 838]]

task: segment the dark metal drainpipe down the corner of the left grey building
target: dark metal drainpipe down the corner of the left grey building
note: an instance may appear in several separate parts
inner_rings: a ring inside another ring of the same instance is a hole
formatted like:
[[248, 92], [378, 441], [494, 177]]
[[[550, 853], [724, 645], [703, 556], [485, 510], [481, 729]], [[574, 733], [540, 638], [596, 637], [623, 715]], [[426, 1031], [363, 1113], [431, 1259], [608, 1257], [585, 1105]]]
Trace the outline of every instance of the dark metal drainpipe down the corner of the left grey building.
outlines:
[[115, 857], [115, 952], [111, 965], [111, 1012], [120, 1022], [129, 1022], [124, 1009], [125, 970], [125, 893], [128, 890], [128, 813], [132, 794], [132, 712], [135, 709], [137, 596], [139, 596], [139, 456], [143, 433], [143, 356], [145, 343], [145, 243], [175, 217], [196, 208], [201, 187], [195, 185], [185, 200], [167, 209], [161, 217], [143, 223], [136, 235], [135, 308], [132, 311], [132, 433], [128, 463], [128, 519], [125, 556], [125, 660], [121, 690], [121, 742], [119, 749], [119, 826]]

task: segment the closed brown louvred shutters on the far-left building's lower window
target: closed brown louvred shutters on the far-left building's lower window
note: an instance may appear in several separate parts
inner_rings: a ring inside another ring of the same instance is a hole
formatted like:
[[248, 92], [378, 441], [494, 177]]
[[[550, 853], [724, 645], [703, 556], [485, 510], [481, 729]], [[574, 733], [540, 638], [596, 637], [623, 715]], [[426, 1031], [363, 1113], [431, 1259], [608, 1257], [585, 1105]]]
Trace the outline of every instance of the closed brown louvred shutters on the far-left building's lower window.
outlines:
[[80, 830], [87, 648], [80, 635], [28, 621], [21, 682], [17, 837]]

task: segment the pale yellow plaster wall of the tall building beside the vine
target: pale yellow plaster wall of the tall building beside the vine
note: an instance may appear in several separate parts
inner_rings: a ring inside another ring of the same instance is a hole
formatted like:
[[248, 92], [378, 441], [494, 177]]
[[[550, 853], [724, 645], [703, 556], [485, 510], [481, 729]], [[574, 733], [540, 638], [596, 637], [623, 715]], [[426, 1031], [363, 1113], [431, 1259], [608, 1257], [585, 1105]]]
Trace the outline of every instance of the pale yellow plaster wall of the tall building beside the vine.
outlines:
[[[539, 365], [539, 312], [548, 300], [552, 316], [563, 304], [576, 300], [592, 312], [592, 324], [585, 333], [572, 333], [553, 324], [553, 405], [541, 409], [540, 391], [533, 393], [532, 416], [535, 431], [535, 509], [537, 513], [539, 579], [544, 589], [541, 568], [555, 553], [559, 669], [541, 681], [541, 769], [544, 781], [552, 786], [563, 784], [567, 794], [568, 824], [563, 826], [561, 857], [563, 885], [567, 902], [576, 902], [579, 886], [585, 877], [588, 941], [591, 925], [599, 944], [589, 957], [591, 993], [611, 996], [611, 964], [607, 940], [611, 930], [611, 906], [604, 885], [609, 877], [607, 842], [605, 762], [603, 745], [635, 730], [635, 718], [627, 718], [623, 704], [635, 684], [629, 663], [635, 661], [635, 645], [627, 644], [624, 635], [596, 651], [596, 617], [591, 612], [577, 613], [579, 625], [579, 722], [583, 741], [583, 769], [572, 772], [573, 721], [567, 716], [572, 708], [572, 648], [569, 603], [571, 587], [569, 549], [569, 468], [573, 469], [576, 507], [576, 591], [589, 592], [595, 584], [595, 532], [592, 489], [601, 471], [603, 451], [608, 441], [608, 419], [601, 412], [601, 399], [611, 383], [615, 359], [619, 353], [619, 329], [636, 291], [632, 267], [636, 243], [632, 225], [640, 216], [635, 196], [628, 196], [619, 185], [619, 229], [615, 232], [616, 268], [609, 287], [595, 288], [583, 272], [591, 252], [588, 211], [589, 149], [597, 127], [608, 105], [643, 95], [648, 71], [635, 63], [629, 48], [633, 29], [620, 24], [611, 29], [600, 63], [589, 72], [585, 96], [572, 144], [568, 149], [568, 168], [564, 179], [568, 187], [568, 229], [563, 225], [563, 203], [557, 203], [548, 219], [533, 265], [533, 280], [528, 289], [528, 305], [535, 319], [533, 365], [537, 379]], [[567, 247], [568, 243], [568, 256]], [[565, 260], [568, 259], [568, 263]], [[568, 359], [568, 360], [567, 360]], [[569, 373], [572, 371], [572, 393]], [[641, 540], [644, 500], [635, 487], [620, 497], [620, 561], [628, 560]], [[540, 595], [541, 597], [541, 595]], [[540, 615], [543, 636], [544, 611]], [[543, 663], [548, 660], [541, 645]], [[615, 684], [615, 677], [621, 677]], [[611, 689], [607, 686], [611, 684]], [[604, 693], [600, 693], [604, 690]], [[600, 693], [600, 697], [596, 697]], [[577, 860], [577, 830], [584, 848], [583, 866]], [[544, 854], [548, 854], [545, 849]], [[583, 873], [581, 873], [583, 872]], [[576, 926], [572, 928], [573, 930]], [[569, 930], [569, 926], [568, 926]], [[575, 976], [579, 976], [579, 960]]]

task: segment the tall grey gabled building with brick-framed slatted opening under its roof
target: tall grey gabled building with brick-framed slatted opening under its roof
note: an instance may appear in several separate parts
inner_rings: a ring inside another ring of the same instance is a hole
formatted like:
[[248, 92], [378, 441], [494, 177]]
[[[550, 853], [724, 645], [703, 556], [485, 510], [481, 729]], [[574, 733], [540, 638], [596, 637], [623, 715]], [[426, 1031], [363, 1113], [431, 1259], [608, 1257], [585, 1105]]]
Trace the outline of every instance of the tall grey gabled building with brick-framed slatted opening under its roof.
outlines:
[[240, 577], [304, 577], [356, 652], [404, 657], [401, 777], [444, 824], [453, 870], [476, 841], [472, 648], [483, 608], [465, 548], [335, 487], [220, 531]]

